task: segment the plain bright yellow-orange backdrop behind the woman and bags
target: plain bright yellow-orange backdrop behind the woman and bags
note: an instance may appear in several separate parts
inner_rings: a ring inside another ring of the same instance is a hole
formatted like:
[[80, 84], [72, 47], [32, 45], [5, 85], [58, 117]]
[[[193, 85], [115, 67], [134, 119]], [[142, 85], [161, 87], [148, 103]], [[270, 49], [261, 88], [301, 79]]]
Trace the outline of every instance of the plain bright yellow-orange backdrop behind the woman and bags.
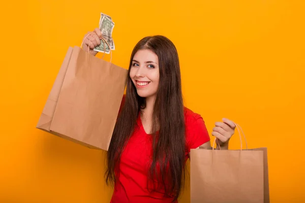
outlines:
[[[250, 148], [268, 148], [271, 202], [304, 202], [304, 6], [301, 0], [6, 1], [0, 202], [109, 202], [105, 153], [35, 128], [68, 47], [80, 46], [99, 26], [100, 12], [115, 22], [117, 65], [127, 68], [142, 37], [170, 38], [186, 106], [210, 132], [228, 117], [243, 127]], [[235, 134], [230, 148], [238, 147]], [[187, 188], [180, 202], [189, 195]]]

